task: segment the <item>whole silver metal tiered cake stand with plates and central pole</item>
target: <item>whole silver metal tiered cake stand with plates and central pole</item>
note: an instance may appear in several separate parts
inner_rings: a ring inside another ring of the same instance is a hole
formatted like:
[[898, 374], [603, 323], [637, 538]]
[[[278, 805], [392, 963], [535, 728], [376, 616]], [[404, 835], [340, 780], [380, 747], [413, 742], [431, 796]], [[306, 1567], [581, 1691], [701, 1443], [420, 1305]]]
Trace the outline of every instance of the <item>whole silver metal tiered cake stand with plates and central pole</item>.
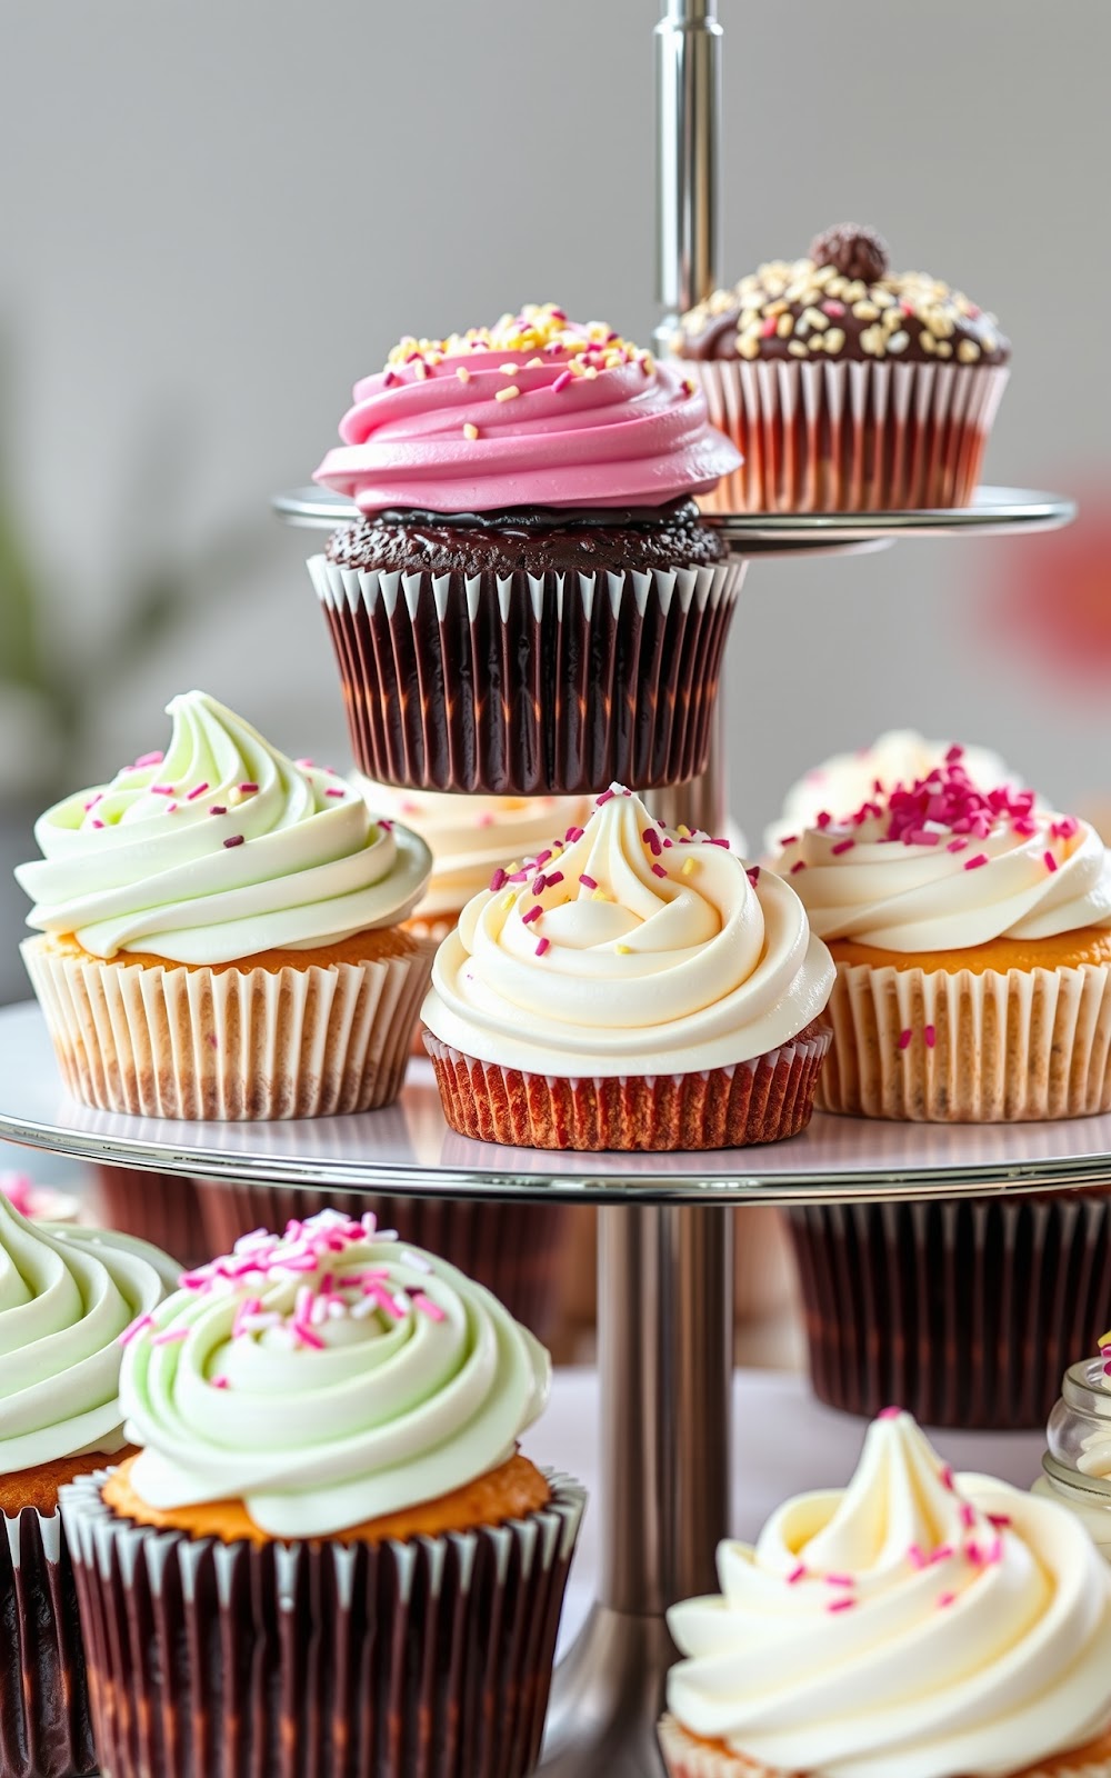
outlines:
[[[658, 27], [659, 297], [672, 311], [715, 284], [720, 36], [716, 0], [668, 0]], [[316, 489], [276, 505], [308, 526], [341, 523], [350, 510]], [[715, 523], [738, 555], [759, 558], [1051, 530], [1072, 516], [1054, 494], [985, 487], [960, 512]], [[722, 805], [718, 749], [691, 807], [718, 814]], [[1111, 1117], [1015, 1127], [816, 1117], [795, 1141], [697, 1156], [503, 1149], [446, 1129], [427, 1063], [412, 1063], [396, 1106], [363, 1117], [128, 1118], [64, 1093], [34, 1006], [0, 1012], [0, 1136], [162, 1173], [473, 1195], [500, 1200], [503, 1214], [528, 1198], [599, 1205], [601, 1486], [592, 1511], [603, 1517], [604, 1556], [590, 1618], [556, 1673], [544, 1778], [661, 1773], [654, 1725], [674, 1661], [665, 1611], [713, 1590], [715, 1547], [729, 1531], [734, 1207], [983, 1197], [1111, 1177]]]

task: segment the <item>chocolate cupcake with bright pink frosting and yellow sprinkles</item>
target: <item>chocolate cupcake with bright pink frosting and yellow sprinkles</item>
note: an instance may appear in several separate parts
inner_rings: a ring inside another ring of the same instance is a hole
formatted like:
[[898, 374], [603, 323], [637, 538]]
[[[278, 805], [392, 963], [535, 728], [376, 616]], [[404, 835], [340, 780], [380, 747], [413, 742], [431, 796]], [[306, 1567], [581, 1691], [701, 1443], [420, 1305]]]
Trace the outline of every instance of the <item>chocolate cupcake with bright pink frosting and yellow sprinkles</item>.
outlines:
[[309, 573], [356, 763], [418, 789], [597, 791], [706, 766], [741, 580], [693, 494], [736, 466], [691, 377], [526, 308], [402, 340], [316, 480]]

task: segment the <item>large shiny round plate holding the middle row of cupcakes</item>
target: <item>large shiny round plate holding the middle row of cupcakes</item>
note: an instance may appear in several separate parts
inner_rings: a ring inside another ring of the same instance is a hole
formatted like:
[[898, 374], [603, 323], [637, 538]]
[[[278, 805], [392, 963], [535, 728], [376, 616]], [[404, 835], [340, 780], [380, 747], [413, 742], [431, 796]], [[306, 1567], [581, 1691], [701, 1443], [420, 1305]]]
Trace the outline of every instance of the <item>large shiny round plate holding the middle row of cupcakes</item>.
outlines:
[[359, 1117], [190, 1124], [94, 1111], [60, 1079], [39, 1008], [0, 1012], [0, 1138], [85, 1161], [434, 1197], [805, 1204], [1045, 1191], [1111, 1179], [1111, 1117], [882, 1124], [814, 1117], [793, 1141], [706, 1154], [574, 1154], [473, 1141], [444, 1124], [427, 1061]]

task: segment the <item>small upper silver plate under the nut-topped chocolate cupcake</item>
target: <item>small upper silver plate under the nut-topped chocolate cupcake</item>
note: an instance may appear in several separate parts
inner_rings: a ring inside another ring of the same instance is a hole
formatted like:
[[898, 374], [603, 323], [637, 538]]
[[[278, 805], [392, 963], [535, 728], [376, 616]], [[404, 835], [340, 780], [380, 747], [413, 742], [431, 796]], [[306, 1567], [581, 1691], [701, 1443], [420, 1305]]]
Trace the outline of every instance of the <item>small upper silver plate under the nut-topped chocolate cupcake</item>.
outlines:
[[[327, 487], [295, 487], [276, 494], [274, 510], [286, 525], [332, 530], [359, 517], [359, 509]], [[928, 507], [910, 512], [707, 512], [738, 555], [809, 555], [830, 549], [878, 549], [899, 537], [1004, 537], [1011, 532], [1056, 532], [1075, 519], [1075, 501], [1027, 487], [978, 487], [971, 507]]]

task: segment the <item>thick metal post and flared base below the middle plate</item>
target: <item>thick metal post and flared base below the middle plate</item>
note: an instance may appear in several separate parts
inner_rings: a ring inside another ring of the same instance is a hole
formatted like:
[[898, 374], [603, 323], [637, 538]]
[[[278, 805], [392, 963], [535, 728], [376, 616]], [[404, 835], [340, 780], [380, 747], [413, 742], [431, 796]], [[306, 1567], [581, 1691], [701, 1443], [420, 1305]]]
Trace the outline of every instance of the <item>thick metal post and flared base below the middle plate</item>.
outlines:
[[555, 1677], [540, 1778], [661, 1778], [665, 1613], [729, 1529], [732, 1227], [720, 1205], [599, 1211], [599, 1598]]

